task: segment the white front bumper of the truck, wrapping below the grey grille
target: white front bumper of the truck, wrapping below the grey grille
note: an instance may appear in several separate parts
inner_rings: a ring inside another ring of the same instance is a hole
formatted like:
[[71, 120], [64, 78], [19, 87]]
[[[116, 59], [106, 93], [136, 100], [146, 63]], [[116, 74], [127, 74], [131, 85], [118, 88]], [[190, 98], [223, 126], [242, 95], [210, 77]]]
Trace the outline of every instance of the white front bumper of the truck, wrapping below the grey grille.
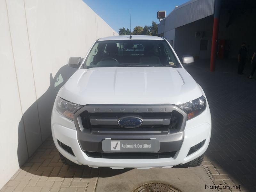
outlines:
[[[171, 158], [159, 159], [106, 159], [87, 156], [81, 149], [77, 138], [77, 131], [73, 121], [60, 115], [55, 109], [52, 111], [52, 137], [60, 153], [76, 164], [90, 167], [111, 167], [113, 169], [151, 167], [169, 168], [178, 164], [185, 164], [201, 156], [206, 151], [211, 136], [211, 115], [207, 104], [205, 111], [199, 116], [186, 122], [183, 131], [183, 141], [180, 149]], [[131, 137], [132, 138], [132, 137]], [[74, 156], [60, 147], [57, 140], [72, 148]], [[189, 149], [204, 141], [204, 145], [196, 152], [188, 155]]]

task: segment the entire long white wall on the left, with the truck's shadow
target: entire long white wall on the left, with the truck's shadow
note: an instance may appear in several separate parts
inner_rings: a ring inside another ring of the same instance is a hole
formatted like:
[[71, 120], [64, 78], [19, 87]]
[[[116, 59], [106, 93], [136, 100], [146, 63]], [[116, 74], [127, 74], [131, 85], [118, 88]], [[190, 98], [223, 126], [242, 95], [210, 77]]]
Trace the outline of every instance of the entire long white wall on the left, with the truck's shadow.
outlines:
[[82, 0], [0, 0], [0, 188], [51, 134], [71, 56], [117, 35]]

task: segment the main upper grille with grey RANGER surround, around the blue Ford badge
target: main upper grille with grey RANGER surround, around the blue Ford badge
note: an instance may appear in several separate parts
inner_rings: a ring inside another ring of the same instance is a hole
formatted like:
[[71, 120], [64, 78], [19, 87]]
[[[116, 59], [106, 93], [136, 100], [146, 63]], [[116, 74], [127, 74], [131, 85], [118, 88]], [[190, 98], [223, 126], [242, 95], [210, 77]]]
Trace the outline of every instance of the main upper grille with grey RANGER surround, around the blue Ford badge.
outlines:
[[[83, 132], [179, 132], [186, 121], [186, 114], [172, 105], [88, 105], [78, 111], [79, 128]], [[117, 124], [122, 117], [138, 117], [139, 127], [124, 128]]]

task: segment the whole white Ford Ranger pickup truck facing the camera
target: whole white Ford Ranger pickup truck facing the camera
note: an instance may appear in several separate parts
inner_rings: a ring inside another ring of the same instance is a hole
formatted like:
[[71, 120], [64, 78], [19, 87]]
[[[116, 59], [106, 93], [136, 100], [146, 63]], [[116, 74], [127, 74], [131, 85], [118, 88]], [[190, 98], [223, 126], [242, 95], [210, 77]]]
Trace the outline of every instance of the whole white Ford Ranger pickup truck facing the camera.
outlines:
[[52, 137], [64, 164], [114, 169], [201, 164], [211, 136], [204, 91], [168, 41], [98, 39], [57, 94]]

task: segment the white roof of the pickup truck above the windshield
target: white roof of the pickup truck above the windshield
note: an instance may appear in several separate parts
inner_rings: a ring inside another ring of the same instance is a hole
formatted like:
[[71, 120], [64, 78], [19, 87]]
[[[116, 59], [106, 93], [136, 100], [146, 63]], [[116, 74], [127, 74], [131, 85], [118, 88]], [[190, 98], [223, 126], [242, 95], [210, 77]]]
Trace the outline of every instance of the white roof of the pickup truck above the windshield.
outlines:
[[[120, 36], [110, 36], [100, 38], [98, 41], [109, 41], [109, 40], [127, 40], [130, 39], [129, 35], [120, 35]], [[162, 37], [158, 36], [149, 36], [149, 35], [132, 35], [132, 39], [140, 40], [164, 40]]]

